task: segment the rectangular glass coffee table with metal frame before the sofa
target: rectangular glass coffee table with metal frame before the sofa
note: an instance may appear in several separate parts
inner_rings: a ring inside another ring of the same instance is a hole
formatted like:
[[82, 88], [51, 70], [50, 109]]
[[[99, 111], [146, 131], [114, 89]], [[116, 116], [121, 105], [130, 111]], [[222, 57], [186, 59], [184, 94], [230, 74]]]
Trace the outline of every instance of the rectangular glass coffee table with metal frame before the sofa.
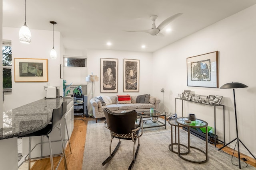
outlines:
[[[143, 121], [143, 128], [150, 128], [150, 127], [160, 127], [164, 126], [166, 129], [166, 114], [161, 113], [159, 111], [154, 110], [153, 113], [150, 113], [150, 109], [145, 111], [137, 111], [138, 118], [142, 116]], [[164, 123], [159, 121], [159, 117], [164, 117]]]

